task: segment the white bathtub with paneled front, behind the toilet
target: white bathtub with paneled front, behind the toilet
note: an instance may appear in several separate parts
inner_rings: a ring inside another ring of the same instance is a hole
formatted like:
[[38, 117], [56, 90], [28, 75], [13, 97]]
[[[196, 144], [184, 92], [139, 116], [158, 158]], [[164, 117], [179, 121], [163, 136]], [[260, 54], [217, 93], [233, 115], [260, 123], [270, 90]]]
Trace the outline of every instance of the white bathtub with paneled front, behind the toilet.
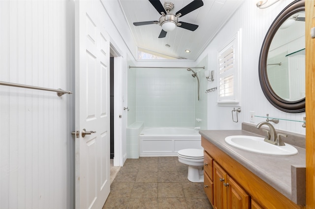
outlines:
[[203, 149], [201, 135], [193, 128], [144, 128], [139, 134], [140, 157], [177, 156], [182, 149]]

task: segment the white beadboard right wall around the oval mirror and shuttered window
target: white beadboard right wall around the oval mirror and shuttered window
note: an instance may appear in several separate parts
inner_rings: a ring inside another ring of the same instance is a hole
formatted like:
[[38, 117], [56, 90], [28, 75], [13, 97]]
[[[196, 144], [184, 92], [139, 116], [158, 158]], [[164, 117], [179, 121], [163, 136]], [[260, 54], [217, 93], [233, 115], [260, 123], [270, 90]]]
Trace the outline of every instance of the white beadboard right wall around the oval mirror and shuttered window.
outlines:
[[[256, 1], [245, 0], [231, 19], [221, 28], [220, 32], [209, 44], [200, 57], [208, 55], [209, 70], [217, 70], [217, 52], [226, 44], [238, 30], [242, 28], [242, 60], [241, 60], [241, 113], [239, 122], [232, 122], [231, 110], [233, 106], [222, 107], [217, 104], [217, 95], [208, 94], [208, 129], [228, 130], [241, 129], [241, 122], [250, 122], [250, 111], [257, 116], [284, 118], [289, 120], [303, 120], [305, 112], [286, 113], [275, 108], [265, 98], [258, 78], [258, 60], [262, 42], [269, 26], [277, 15], [291, 0], [279, 1], [266, 9], [258, 9]], [[197, 60], [198, 61], [198, 60]], [[218, 72], [216, 71], [215, 78]], [[208, 88], [217, 86], [217, 83], [208, 83]], [[255, 124], [264, 121], [264, 118], [255, 117]], [[276, 129], [305, 134], [301, 122], [280, 121], [273, 124]]]

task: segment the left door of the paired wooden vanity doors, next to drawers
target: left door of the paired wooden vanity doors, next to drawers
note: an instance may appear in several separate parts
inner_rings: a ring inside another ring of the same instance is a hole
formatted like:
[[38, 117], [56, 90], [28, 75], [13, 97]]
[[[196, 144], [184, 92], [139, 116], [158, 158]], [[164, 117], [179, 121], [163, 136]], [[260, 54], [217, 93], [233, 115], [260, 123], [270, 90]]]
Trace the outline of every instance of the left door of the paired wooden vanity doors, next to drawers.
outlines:
[[226, 172], [215, 161], [213, 162], [213, 197], [215, 209], [226, 209]]

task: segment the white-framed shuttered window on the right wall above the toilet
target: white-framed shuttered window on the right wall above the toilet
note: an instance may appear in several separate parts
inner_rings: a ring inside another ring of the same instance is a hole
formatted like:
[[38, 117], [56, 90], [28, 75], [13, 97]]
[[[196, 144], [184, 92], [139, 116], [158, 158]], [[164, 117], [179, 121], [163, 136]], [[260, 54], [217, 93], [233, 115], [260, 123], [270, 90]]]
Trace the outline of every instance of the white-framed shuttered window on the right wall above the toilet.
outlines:
[[240, 31], [218, 52], [218, 103], [239, 103]]

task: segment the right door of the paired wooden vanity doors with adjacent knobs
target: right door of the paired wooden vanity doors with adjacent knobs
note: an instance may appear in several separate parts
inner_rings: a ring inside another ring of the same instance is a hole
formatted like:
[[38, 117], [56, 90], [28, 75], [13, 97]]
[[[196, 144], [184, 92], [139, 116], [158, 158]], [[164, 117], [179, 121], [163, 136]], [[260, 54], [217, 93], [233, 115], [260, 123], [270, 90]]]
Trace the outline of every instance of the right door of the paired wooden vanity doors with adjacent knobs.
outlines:
[[227, 209], [250, 209], [250, 196], [229, 175], [226, 176]]

